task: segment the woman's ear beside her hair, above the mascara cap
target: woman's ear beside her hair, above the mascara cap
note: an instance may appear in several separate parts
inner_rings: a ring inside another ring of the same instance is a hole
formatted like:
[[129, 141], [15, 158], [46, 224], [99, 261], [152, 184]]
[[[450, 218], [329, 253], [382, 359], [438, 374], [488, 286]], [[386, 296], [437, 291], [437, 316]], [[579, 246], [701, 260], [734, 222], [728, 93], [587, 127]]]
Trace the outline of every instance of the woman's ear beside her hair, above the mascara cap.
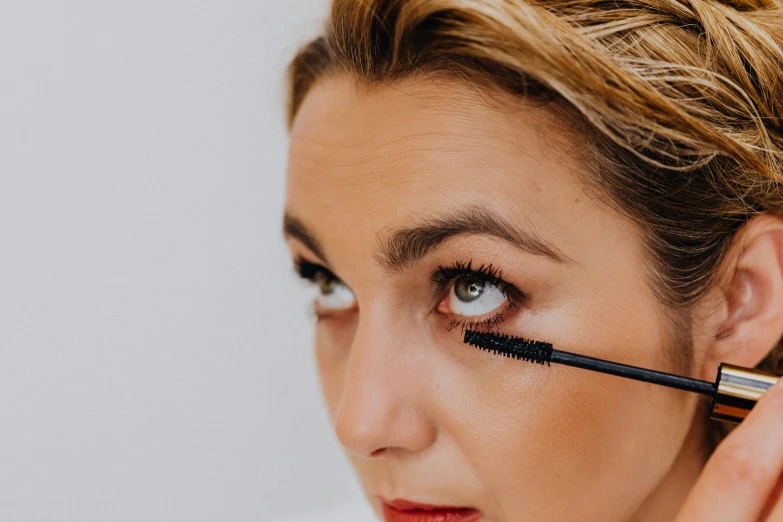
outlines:
[[783, 335], [783, 218], [760, 214], [740, 229], [710, 293], [705, 380], [721, 362], [756, 366]]

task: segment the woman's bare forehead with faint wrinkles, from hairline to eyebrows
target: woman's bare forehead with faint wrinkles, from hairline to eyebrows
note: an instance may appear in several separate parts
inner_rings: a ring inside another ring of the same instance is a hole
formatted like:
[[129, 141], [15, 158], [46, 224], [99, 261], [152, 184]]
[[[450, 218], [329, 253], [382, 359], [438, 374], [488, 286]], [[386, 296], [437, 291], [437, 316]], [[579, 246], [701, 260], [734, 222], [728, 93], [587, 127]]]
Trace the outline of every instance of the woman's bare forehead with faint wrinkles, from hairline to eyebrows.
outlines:
[[587, 196], [554, 114], [458, 80], [322, 80], [292, 128], [286, 208], [323, 238], [350, 230], [358, 241], [485, 206], [578, 247], [619, 217]]

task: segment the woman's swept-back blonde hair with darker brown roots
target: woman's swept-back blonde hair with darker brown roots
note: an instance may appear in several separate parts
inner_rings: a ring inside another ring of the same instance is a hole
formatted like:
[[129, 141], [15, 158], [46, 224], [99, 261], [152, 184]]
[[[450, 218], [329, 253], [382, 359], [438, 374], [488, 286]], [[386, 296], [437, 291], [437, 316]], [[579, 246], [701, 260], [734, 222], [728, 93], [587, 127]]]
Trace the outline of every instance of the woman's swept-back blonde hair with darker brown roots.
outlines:
[[[751, 217], [783, 215], [781, 0], [334, 0], [289, 67], [289, 125], [339, 72], [445, 73], [568, 107], [670, 310], [704, 294]], [[783, 347], [760, 367], [783, 371]]]

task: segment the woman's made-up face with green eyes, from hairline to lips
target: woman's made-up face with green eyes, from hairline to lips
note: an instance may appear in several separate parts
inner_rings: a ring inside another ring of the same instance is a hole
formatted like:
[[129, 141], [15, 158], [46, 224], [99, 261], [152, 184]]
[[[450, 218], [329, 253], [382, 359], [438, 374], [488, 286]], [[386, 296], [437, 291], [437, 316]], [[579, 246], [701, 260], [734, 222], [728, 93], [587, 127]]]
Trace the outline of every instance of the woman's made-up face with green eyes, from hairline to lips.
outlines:
[[298, 113], [288, 244], [317, 289], [334, 429], [389, 520], [408, 520], [394, 500], [494, 521], [660, 516], [698, 471], [694, 396], [462, 342], [500, 331], [677, 369], [639, 232], [590, 196], [553, 114], [457, 81], [349, 77]]

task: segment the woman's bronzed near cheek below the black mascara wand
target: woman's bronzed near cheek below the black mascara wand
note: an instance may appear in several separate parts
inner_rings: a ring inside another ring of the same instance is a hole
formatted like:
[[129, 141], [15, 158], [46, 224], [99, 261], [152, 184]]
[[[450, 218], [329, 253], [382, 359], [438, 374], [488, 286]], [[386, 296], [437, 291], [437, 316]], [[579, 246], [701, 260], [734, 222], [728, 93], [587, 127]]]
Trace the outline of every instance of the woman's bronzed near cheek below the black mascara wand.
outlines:
[[442, 428], [501, 519], [627, 519], [689, 428], [681, 393], [574, 368], [506, 359], [460, 382]]

